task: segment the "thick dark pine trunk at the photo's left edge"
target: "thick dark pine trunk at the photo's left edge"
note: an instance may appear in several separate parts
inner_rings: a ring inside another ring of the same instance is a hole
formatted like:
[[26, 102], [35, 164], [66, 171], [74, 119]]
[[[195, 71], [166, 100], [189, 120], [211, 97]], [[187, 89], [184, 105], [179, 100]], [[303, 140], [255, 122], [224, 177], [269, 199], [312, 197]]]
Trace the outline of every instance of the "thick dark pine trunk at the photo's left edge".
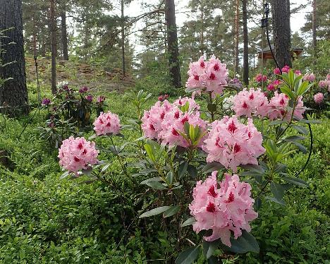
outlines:
[[[6, 37], [0, 38], [0, 51], [6, 49], [0, 52], [0, 79], [11, 78], [0, 86], [0, 107], [5, 107], [0, 109], [3, 113], [17, 115], [29, 111], [21, 0], [0, 0], [0, 31], [9, 28], [12, 29], [5, 32]], [[11, 42], [16, 44], [8, 44]], [[8, 65], [2, 66], [4, 64]], [[18, 109], [20, 111], [16, 111]]]

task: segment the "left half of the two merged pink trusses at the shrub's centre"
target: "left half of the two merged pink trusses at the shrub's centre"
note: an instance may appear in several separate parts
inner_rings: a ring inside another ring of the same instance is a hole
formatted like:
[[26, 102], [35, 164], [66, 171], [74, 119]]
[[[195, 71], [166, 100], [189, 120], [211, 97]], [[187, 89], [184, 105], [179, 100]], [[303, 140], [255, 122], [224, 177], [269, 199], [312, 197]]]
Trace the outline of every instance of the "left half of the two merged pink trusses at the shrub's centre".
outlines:
[[154, 106], [145, 111], [142, 116], [142, 131], [146, 138], [160, 140], [159, 133], [161, 132], [161, 122], [164, 121], [165, 114], [172, 109], [169, 101], [156, 102]]

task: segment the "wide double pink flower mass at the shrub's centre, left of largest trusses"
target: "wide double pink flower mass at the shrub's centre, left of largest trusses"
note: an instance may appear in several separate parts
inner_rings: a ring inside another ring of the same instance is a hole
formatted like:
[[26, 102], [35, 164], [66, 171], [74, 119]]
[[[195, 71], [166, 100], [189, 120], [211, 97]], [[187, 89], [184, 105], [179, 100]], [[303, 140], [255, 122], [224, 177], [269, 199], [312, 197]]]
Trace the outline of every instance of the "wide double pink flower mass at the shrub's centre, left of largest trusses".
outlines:
[[[188, 112], [183, 112], [181, 107], [186, 102], [189, 103]], [[146, 138], [157, 139], [162, 144], [188, 148], [188, 141], [181, 136], [181, 133], [185, 133], [185, 122], [200, 127], [202, 131], [207, 129], [207, 123], [200, 118], [197, 109], [200, 109], [200, 106], [195, 100], [188, 97], [179, 98], [173, 104], [167, 100], [162, 103], [158, 101], [142, 116], [142, 131]], [[200, 140], [200, 144], [202, 144], [202, 140]]]

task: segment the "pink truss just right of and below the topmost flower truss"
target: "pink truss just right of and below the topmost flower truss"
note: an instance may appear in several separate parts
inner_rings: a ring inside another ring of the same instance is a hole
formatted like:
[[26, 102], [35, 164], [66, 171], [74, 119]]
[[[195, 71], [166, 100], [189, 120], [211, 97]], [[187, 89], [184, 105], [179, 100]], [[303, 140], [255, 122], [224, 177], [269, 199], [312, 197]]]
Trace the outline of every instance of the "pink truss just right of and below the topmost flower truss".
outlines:
[[267, 116], [268, 113], [268, 99], [260, 88], [244, 88], [238, 95], [233, 98], [233, 110], [237, 116], [248, 116], [252, 114], [255, 116]]

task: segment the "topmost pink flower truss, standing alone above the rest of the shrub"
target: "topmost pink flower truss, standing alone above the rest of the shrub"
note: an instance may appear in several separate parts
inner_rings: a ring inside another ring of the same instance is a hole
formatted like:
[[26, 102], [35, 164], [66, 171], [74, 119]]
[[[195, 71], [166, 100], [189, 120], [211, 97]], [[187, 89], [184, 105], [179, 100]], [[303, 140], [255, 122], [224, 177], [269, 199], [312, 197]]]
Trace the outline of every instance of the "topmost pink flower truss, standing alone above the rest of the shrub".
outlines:
[[228, 69], [215, 56], [209, 61], [204, 61], [204, 56], [201, 56], [198, 61], [189, 65], [188, 75], [185, 83], [187, 88], [206, 88], [208, 92], [221, 94], [227, 84]]

